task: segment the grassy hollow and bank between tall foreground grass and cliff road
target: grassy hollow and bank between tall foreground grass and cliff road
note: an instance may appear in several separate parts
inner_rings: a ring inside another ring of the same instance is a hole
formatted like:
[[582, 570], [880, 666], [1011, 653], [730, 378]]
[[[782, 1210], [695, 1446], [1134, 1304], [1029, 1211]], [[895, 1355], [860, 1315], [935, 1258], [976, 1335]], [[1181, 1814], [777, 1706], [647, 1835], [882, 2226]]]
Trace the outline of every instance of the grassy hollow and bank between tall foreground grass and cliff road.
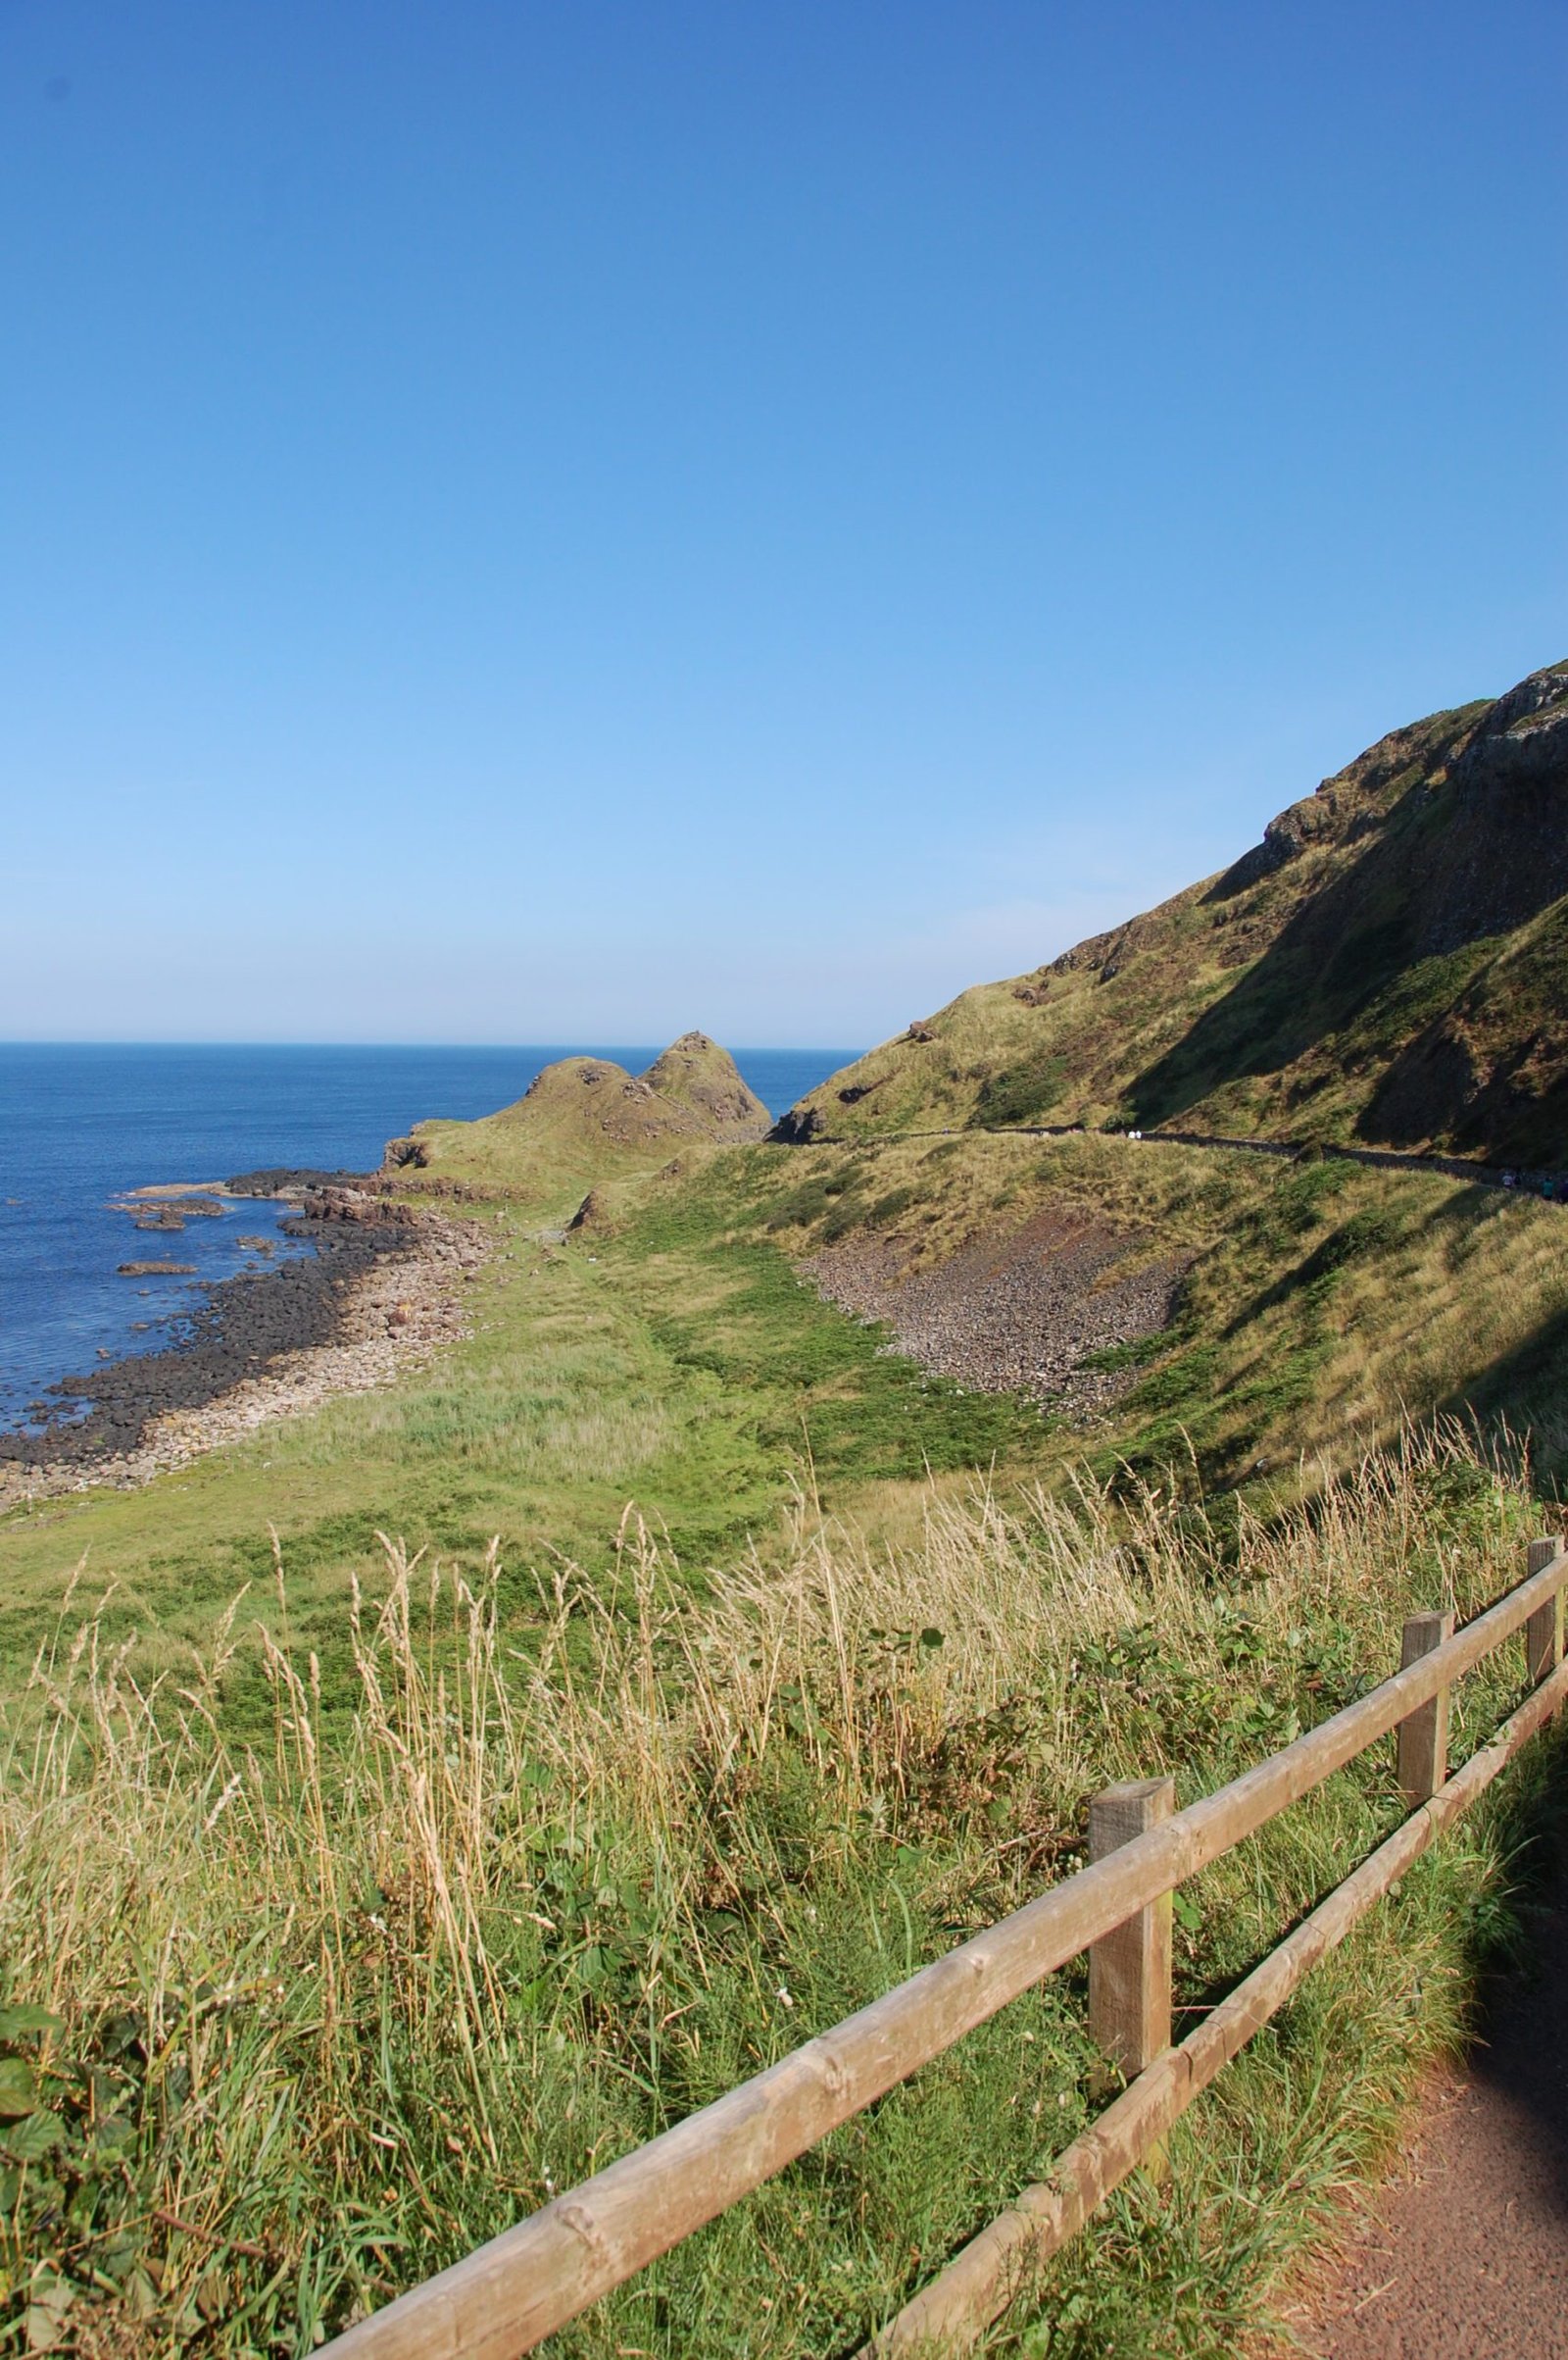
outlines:
[[[455, 1149], [448, 1171], [483, 1185], [481, 1156]], [[622, 1180], [604, 1220], [540, 1244], [561, 1225], [556, 1175], [533, 1201], [509, 1178], [509, 1201], [465, 1206], [495, 1256], [472, 1286], [472, 1336], [434, 1369], [144, 1492], [7, 1517], [2, 1661], [26, 1661], [83, 1551], [120, 1586], [111, 1624], [167, 1643], [266, 1572], [276, 1527], [330, 1654], [377, 1532], [467, 1565], [500, 1536], [512, 1569], [604, 1567], [637, 1501], [700, 1579], [714, 1555], [766, 1543], [795, 1487], [898, 1529], [927, 1473], [1012, 1482], [1082, 1456], [1170, 1466], [1188, 1492], [1290, 1492], [1302, 1449], [1349, 1458], [1434, 1407], [1530, 1423], [1547, 1466], [1563, 1447], [1568, 1213], [1533, 1199], [1344, 1161], [964, 1135], [707, 1152]], [[1087, 1430], [924, 1378], [792, 1267], [863, 1227], [920, 1265], [1047, 1204], [1193, 1256], [1174, 1329], [1125, 1355], [1129, 1392]]]

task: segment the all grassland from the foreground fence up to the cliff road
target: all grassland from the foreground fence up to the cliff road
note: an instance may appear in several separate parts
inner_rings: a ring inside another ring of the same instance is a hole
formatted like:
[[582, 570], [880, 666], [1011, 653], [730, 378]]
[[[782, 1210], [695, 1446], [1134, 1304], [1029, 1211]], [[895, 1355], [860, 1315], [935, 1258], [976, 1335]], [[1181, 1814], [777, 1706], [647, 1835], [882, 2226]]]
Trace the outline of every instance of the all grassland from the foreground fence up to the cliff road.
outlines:
[[[566, 1244], [575, 1168], [488, 1173], [439, 1364], [0, 1525], [12, 2341], [309, 2351], [1068, 1874], [1099, 1784], [1186, 1798], [1332, 1711], [1549, 1513], [1497, 1425], [1403, 1421], [1551, 1404], [1554, 1208], [1106, 1138], [681, 1161]], [[1042, 1204], [1191, 1256], [1099, 1428], [927, 1378], [795, 1272]], [[1408, 1879], [995, 2351], [1269, 2322], [1460, 2037], [1537, 1791]], [[1375, 1756], [1207, 1871], [1181, 2001], [1396, 1810]], [[561, 2351], [846, 2353], [1101, 2093], [1068, 1973]]]

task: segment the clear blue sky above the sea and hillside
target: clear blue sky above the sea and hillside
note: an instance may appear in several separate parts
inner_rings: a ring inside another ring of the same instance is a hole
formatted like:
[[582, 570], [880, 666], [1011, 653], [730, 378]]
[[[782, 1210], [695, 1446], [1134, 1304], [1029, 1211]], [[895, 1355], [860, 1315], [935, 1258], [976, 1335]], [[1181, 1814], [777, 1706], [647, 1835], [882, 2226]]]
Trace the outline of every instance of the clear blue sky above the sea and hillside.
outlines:
[[0, 1031], [854, 1045], [1568, 651], [1561, 0], [0, 0]]

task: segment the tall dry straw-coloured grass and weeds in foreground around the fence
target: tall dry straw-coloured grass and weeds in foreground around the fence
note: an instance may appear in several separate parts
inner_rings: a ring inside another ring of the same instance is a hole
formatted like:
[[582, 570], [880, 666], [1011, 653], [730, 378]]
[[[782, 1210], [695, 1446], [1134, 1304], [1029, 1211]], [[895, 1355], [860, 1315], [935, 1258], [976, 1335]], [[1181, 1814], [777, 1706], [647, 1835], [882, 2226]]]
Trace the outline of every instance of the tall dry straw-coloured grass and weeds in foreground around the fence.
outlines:
[[[875, 1551], [802, 1501], [780, 1565], [693, 1588], [627, 1520], [618, 1581], [540, 1581], [521, 1652], [495, 1565], [469, 1584], [389, 1541], [349, 1607], [351, 1699], [292, 1640], [281, 1562], [184, 1680], [144, 1685], [134, 1645], [66, 1614], [0, 1789], [0, 2044], [31, 2077], [0, 2124], [12, 2318], [35, 2348], [307, 2351], [1068, 1871], [1096, 1787], [1167, 1768], [1191, 1796], [1382, 1678], [1403, 1612], [1521, 1576], [1533, 1513], [1521, 1468], [1445, 1430], [1240, 1532], [1080, 1482], [934, 1496]], [[264, 1739], [233, 1728], [252, 1650]], [[1516, 1671], [1464, 1692], [1460, 1751]], [[1207, 1871], [1184, 1997], [1396, 1812], [1368, 1758]], [[1278, 2103], [1276, 2162], [1325, 2103], [1344, 2155], [1382, 2136], [1452, 2039], [1500, 1848], [1434, 1869], [1448, 1914], [1408, 1916], [1375, 2004], [1344, 1985], [1403, 2030]], [[1094, 2086], [1056, 1978], [566, 2343], [849, 2346]], [[1292, 2237], [1280, 2216], [1236, 2280], [1212, 2249], [1170, 2318], [1231, 2334]], [[1162, 2282], [1134, 2277], [1151, 2334]]]

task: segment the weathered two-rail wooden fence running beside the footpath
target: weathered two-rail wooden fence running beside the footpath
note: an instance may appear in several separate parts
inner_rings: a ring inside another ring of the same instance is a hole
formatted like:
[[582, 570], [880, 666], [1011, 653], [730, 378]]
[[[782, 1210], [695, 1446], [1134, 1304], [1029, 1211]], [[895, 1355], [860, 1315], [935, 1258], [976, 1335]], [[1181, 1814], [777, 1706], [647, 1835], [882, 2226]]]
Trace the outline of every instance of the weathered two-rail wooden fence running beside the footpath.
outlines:
[[[1087, 1869], [401, 2294], [328, 2351], [337, 2360], [512, 2360], [533, 2351], [1087, 1949], [1092, 2030], [1132, 2077], [1127, 2089], [1056, 2157], [1049, 2181], [1014, 2197], [865, 2346], [868, 2355], [967, 2351], [1096, 2204], [1160, 2155], [1198, 2091], [1568, 1699], [1566, 1586], [1561, 1536], [1530, 1541], [1518, 1588], [1457, 1633], [1452, 1614], [1415, 1614], [1394, 1678], [1217, 1794], [1172, 1810], [1170, 1779], [1111, 1787], [1089, 1810]], [[1450, 1685], [1516, 1631], [1526, 1633], [1530, 1692], [1450, 1779]], [[1391, 1730], [1410, 1817], [1172, 2048], [1174, 1888]]]

